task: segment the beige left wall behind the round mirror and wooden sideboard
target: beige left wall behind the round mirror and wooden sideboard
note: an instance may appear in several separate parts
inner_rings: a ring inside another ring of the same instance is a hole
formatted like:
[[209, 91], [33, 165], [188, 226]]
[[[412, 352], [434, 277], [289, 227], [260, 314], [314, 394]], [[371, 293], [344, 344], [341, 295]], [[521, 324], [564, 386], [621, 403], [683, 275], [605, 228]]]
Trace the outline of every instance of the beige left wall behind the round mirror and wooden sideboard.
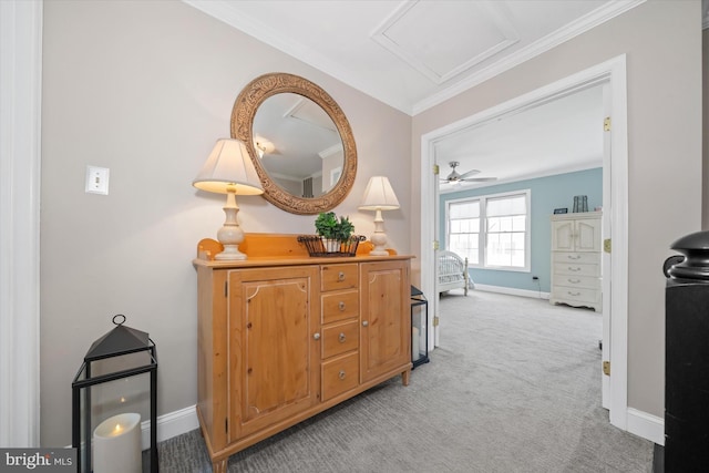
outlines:
[[[191, 183], [242, 88], [275, 71], [318, 83], [350, 120], [359, 168], [336, 212], [370, 235], [373, 214], [357, 205], [371, 175], [388, 175], [402, 208], [387, 232], [409, 253], [409, 116], [178, 1], [44, 2], [42, 445], [71, 443], [71, 381], [115, 313], [157, 345], [158, 414], [196, 403], [192, 258], [224, 222], [224, 196]], [[109, 196], [84, 193], [88, 164], [111, 169]], [[315, 216], [261, 197], [239, 206], [247, 232], [315, 230]]]

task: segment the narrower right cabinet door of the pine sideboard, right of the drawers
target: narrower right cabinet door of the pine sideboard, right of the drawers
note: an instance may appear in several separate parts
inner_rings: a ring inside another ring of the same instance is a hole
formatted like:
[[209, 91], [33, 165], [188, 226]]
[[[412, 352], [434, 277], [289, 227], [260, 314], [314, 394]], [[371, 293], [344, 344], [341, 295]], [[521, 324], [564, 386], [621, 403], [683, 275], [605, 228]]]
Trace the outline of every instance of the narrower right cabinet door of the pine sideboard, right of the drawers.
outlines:
[[409, 261], [360, 265], [361, 382], [411, 361], [409, 294]]

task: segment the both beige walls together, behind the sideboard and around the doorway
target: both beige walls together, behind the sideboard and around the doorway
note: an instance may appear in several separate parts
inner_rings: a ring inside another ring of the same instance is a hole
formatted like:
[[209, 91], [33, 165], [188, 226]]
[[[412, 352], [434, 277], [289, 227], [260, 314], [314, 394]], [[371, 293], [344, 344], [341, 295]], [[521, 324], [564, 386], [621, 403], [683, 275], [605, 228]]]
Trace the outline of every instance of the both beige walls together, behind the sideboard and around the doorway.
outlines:
[[[664, 278], [678, 236], [701, 222], [699, 1], [650, 0], [413, 121], [177, 1], [44, 3], [41, 403], [42, 444], [70, 443], [70, 383], [91, 341], [125, 313], [160, 354], [160, 413], [196, 402], [195, 244], [224, 220], [223, 197], [189, 185], [234, 99], [274, 71], [321, 85], [347, 113], [356, 186], [336, 212], [357, 232], [371, 175], [392, 182], [392, 246], [419, 253], [421, 135], [627, 53], [629, 399], [662, 415]], [[412, 126], [413, 122], [413, 128]], [[413, 130], [413, 133], [412, 133]], [[111, 168], [111, 194], [84, 194], [88, 164]], [[409, 178], [411, 177], [411, 178]], [[311, 233], [260, 197], [239, 199], [247, 232]]]

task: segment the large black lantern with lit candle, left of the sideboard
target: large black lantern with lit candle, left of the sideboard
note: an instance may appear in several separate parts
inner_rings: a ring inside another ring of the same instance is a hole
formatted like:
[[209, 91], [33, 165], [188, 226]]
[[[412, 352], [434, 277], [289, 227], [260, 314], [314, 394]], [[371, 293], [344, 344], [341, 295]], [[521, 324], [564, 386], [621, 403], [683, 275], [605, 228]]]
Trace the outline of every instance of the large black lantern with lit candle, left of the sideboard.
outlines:
[[71, 384], [79, 473], [145, 471], [141, 419], [148, 417], [150, 471], [158, 471], [157, 352], [146, 332], [124, 322], [125, 316], [113, 317], [116, 327], [93, 342]]

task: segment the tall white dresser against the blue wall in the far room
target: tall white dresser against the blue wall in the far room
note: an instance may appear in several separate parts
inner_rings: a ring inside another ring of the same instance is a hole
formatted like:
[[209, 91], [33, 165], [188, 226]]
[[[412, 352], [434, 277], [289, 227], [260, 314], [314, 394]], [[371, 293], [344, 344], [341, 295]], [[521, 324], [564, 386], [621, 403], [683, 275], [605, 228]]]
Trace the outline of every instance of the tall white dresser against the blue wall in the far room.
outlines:
[[602, 310], [600, 212], [552, 216], [551, 304]]

